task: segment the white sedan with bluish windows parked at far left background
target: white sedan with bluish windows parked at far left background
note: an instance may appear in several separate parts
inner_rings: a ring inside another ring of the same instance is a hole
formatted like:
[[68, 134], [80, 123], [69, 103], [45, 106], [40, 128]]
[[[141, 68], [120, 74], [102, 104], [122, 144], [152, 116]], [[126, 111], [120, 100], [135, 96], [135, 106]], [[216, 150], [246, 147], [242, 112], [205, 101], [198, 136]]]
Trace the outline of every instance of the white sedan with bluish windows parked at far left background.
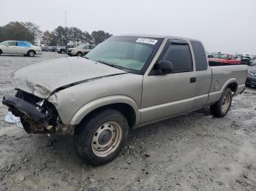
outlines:
[[4, 41], [0, 43], [0, 55], [12, 54], [12, 55], [28, 55], [34, 57], [34, 55], [41, 55], [41, 47], [33, 46], [30, 42], [26, 41]]

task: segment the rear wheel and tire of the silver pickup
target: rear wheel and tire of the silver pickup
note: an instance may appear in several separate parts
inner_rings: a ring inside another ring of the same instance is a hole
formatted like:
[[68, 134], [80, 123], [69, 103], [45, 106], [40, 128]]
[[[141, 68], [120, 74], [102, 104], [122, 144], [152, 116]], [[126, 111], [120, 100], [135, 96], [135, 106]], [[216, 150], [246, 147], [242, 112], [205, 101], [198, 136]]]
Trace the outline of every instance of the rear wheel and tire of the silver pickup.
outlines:
[[224, 117], [230, 110], [232, 103], [232, 91], [229, 87], [222, 93], [222, 96], [219, 98], [216, 104], [210, 106], [211, 114], [214, 117]]

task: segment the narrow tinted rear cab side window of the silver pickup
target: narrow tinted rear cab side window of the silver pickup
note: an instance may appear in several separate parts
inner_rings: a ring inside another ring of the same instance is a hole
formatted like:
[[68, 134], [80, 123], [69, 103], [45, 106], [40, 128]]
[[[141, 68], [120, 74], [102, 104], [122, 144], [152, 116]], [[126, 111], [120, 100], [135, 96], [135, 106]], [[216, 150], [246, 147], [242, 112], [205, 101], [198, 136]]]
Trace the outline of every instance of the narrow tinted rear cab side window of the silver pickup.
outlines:
[[206, 52], [203, 48], [203, 44], [197, 41], [191, 41], [192, 48], [195, 54], [195, 66], [197, 71], [206, 70], [208, 68], [208, 62], [206, 59]]

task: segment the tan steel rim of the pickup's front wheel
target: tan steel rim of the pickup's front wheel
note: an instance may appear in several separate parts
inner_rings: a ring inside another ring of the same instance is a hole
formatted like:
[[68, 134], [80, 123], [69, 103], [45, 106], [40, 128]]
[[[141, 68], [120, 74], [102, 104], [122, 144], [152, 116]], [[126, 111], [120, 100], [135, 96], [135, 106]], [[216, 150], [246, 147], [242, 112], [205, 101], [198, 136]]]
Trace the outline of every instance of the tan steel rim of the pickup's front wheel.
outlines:
[[121, 142], [121, 126], [117, 122], [105, 122], [91, 140], [91, 148], [98, 157], [107, 157], [115, 152]]

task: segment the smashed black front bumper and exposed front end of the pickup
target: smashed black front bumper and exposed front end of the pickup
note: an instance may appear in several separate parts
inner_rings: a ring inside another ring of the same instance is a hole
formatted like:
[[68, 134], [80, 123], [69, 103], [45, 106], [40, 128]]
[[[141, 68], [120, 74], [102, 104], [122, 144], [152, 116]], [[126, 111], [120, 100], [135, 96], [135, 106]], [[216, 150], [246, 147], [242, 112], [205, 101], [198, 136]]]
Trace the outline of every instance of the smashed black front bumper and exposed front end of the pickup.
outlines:
[[59, 114], [45, 99], [18, 90], [15, 96], [4, 96], [2, 103], [20, 117], [27, 133], [56, 133]]

